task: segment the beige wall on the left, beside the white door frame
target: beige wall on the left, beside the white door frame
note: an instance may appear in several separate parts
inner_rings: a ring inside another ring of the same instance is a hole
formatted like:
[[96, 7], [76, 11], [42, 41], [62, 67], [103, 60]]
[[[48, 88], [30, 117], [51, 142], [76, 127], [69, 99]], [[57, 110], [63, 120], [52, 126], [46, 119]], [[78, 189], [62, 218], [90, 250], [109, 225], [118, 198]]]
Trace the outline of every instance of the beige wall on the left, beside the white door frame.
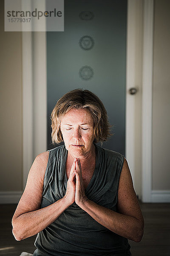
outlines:
[[[22, 63], [21, 33], [4, 32], [0, 1], [0, 198], [22, 188]], [[5, 200], [5, 199], [4, 199]], [[5, 202], [4, 202], [5, 203]]]

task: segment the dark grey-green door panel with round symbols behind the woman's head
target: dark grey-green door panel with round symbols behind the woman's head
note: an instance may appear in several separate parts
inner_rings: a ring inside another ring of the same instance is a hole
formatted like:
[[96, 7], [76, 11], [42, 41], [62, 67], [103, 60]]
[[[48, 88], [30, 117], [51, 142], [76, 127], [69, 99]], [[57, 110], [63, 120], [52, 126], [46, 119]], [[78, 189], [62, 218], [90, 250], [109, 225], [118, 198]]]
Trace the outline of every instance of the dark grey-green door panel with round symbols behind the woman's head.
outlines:
[[[84, 88], [99, 96], [114, 126], [103, 147], [125, 154], [126, 16], [126, 0], [65, 0], [65, 31], [47, 32], [48, 149], [54, 105]], [[80, 75], [83, 66], [90, 68]]]

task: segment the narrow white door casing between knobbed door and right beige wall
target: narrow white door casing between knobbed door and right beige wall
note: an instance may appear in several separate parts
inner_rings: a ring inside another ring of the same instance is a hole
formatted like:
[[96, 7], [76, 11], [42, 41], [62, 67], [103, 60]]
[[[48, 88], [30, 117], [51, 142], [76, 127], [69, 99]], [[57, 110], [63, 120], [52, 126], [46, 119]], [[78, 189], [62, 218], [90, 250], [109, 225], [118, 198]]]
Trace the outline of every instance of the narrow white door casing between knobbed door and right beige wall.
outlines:
[[153, 0], [144, 0], [142, 79], [142, 201], [152, 202]]

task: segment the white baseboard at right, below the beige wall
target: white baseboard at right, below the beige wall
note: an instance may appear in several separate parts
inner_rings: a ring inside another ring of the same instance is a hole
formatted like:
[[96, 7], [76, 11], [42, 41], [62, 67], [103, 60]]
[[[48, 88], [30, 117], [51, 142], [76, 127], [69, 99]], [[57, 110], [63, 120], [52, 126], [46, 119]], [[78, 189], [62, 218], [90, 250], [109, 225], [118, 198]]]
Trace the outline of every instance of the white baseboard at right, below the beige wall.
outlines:
[[152, 190], [153, 203], [170, 203], [170, 190]]

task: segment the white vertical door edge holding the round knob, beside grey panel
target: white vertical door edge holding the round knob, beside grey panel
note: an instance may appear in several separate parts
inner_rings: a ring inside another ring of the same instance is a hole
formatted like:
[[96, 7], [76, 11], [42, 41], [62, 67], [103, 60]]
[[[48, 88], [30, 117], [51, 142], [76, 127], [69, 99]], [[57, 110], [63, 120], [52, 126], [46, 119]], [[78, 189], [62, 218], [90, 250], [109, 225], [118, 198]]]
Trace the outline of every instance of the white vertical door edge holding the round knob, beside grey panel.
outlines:
[[[129, 0], [127, 3], [126, 159], [136, 194], [141, 198], [143, 1]], [[131, 95], [130, 88], [136, 88], [137, 93]]]

